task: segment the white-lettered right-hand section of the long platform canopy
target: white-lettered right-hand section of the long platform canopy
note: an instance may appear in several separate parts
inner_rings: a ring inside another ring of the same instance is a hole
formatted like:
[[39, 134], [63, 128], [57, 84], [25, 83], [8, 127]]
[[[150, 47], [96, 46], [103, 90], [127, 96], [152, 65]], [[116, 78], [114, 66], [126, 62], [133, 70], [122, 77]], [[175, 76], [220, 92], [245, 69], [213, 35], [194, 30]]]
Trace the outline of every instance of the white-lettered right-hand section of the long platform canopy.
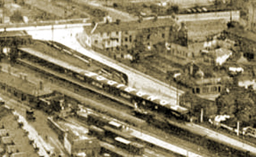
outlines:
[[85, 79], [92, 80], [92, 85], [112, 92], [114, 95], [121, 96], [131, 101], [131, 103], [142, 104], [141, 106], [147, 109], [162, 112], [167, 115], [174, 115], [176, 117], [186, 117], [186, 115], [189, 114], [189, 110], [185, 107], [178, 106], [170, 101], [161, 100], [154, 95], [147, 95], [135, 88], [118, 84], [118, 82], [105, 79], [103, 76], [97, 75], [94, 72], [85, 72], [84, 75]]

